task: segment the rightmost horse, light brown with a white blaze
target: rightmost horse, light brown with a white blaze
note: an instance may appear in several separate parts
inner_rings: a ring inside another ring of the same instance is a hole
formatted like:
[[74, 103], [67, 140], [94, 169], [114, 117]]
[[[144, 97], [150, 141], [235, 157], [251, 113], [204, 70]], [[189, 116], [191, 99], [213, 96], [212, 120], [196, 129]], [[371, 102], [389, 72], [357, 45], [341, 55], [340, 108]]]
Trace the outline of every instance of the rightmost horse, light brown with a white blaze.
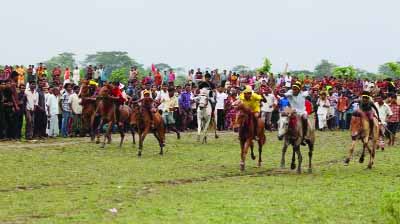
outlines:
[[[364, 162], [365, 149], [368, 149], [369, 152], [369, 163], [368, 169], [372, 168], [372, 165], [375, 161], [375, 151], [378, 144], [379, 139], [379, 123], [376, 117], [374, 117], [372, 121], [372, 128], [370, 127], [370, 122], [367, 116], [361, 112], [356, 111], [352, 114], [350, 121], [350, 132], [351, 132], [351, 146], [349, 149], [349, 154], [344, 160], [344, 164], [348, 165], [350, 160], [353, 157], [354, 147], [356, 145], [356, 141], [359, 139], [363, 143], [362, 153], [359, 159], [360, 163]], [[372, 142], [372, 147], [369, 146], [369, 142]]]

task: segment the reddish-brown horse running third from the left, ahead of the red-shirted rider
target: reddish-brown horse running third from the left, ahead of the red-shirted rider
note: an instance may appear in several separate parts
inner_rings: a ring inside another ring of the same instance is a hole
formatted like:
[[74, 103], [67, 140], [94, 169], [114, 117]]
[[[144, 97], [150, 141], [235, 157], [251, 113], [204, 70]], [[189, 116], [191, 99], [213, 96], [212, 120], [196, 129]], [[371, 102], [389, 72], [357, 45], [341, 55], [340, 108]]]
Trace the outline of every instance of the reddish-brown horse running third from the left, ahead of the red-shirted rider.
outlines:
[[[134, 125], [137, 128], [139, 135], [139, 152], [138, 152], [139, 157], [142, 156], [143, 142], [144, 139], [146, 138], [146, 135], [149, 132], [153, 132], [154, 137], [157, 139], [159, 143], [160, 155], [164, 154], [163, 150], [165, 146], [164, 121], [158, 112], [153, 113], [152, 111], [147, 110], [145, 106], [143, 106], [150, 103], [152, 102], [147, 102], [147, 99], [143, 99], [142, 106], [139, 106], [138, 103], [133, 103], [133, 113], [130, 117], [130, 124]], [[152, 122], [154, 128], [152, 128], [151, 125]]]

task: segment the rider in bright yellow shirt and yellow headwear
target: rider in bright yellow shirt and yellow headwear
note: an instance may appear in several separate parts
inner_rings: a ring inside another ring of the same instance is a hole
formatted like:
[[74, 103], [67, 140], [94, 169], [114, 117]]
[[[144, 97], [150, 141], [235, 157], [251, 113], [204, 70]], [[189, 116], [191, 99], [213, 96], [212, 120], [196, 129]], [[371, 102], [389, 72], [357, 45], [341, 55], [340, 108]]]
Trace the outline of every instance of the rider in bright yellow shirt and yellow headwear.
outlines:
[[257, 133], [257, 119], [260, 117], [261, 111], [260, 104], [261, 101], [266, 102], [264, 96], [262, 94], [260, 95], [258, 93], [254, 93], [251, 89], [251, 86], [246, 86], [246, 88], [240, 94], [239, 100], [244, 106], [250, 108], [251, 112], [254, 114], [254, 133]]

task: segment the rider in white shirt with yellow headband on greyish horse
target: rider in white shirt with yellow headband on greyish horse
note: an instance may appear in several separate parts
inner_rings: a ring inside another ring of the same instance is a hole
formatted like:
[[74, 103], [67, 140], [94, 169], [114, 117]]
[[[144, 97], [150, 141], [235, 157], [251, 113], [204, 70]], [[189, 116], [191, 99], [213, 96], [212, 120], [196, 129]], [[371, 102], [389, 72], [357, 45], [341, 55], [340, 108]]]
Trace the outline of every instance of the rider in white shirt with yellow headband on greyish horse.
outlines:
[[306, 97], [308, 96], [308, 91], [301, 91], [301, 88], [301, 82], [296, 81], [292, 84], [292, 89], [284, 93], [284, 95], [289, 100], [290, 106], [302, 118], [301, 120], [303, 125], [303, 139], [301, 141], [301, 144], [305, 145], [305, 137], [307, 135], [308, 129], [308, 113], [306, 111]]

